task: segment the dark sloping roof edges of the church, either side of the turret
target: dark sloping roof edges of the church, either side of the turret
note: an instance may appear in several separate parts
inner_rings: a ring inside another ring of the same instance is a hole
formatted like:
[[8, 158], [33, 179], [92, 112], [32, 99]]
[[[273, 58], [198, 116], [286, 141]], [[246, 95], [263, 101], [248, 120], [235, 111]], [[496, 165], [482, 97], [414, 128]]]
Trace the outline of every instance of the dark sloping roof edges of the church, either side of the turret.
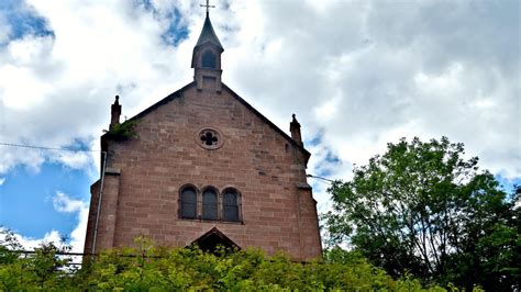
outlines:
[[[135, 121], [135, 120], [138, 120], [138, 119], [142, 119], [144, 116], [146, 116], [148, 113], [155, 111], [157, 108], [164, 105], [164, 104], [167, 104], [168, 102], [177, 99], [177, 98], [180, 98], [182, 96], [182, 92], [186, 91], [187, 89], [191, 88], [191, 87], [195, 87], [196, 86], [196, 82], [192, 81], [186, 86], [184, 86], [182, 88], [180, 88], [179, 90], [170, 93], [169, 96], [167, 96], [166, 98], [159, 100], [158, 102], [152, 104], [151, 106], [148, 106], [147, 109], [145, 109], [144, 111], [142, 111], [141, 113], [132, 116], [131, 119], [126, 120], [124, 123], [129, 122], [129, 121]], [[301, 145], [299, 145], [293, 138], [291, 138], [288, 134], [286, 134], [282, 130], [280, 130], [277, 125], [275, 125], [271, 121], [269, 121], [266, 116], [264, 116], [260, 112], [258, 112], [257, 110], [255, 110], [255, 108], [253, 108], [250, 103], [247, 103], [243, 98], [241, 98], [237, 93], [235, 93], [232, 89], [230, 89], [226, 85], [222, 83], [223, 88], [225, 90], [228, 90], [231, 96], [233, 98], [235, 98], [240, 103], [242, 103], [246, 109], [248, 109], [252, 113], [254, 113], [257, 117], [259, 117], [262, 121], [264, 121], [267, 125], [269, 125], [273, 130], [275, 130], [275, 132], [279, 133], [284, 138], [286, 138], [293, 147], [297, 147], [299, 150], [301, 150], [304, 156], [306, 156], [306, 164], [308, 164], [308, 160], [311, 156], [311, 154]], [[103, 135], [101, 135], [102, 138], [109, 138], [110, 137], [110, 134], [109, 133], [104, 133]]]

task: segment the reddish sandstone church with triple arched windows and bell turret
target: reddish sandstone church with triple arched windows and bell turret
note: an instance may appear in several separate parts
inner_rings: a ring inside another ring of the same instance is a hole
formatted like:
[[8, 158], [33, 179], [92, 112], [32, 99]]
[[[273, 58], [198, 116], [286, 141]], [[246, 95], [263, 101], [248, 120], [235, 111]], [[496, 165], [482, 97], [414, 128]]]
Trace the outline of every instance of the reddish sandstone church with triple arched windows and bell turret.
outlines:
[[300, 124], [293, 115], [286, 134], [223, 83], [223, 52], [207, 7], [193, 81], [122, 124], [117, 97], [90, 190], [86, 254], [144, 235], [162, 246], [321, 256]]

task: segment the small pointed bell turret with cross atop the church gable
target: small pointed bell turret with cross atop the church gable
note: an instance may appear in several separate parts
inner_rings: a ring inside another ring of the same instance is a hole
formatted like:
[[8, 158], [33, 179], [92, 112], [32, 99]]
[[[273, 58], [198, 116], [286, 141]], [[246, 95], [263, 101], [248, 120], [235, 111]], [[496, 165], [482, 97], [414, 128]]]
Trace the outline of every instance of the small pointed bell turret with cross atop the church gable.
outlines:
[[207, 4], [201, 7], [207, 8], [207, 18], [191, 57], [191, 67], [195, 69], [193, 79], [198, 90], [221, 92], [221, 54], [224, 48], [219, 42], [210, 21], [209, 8], [212, 8], [212, 5], [208, 4], [207, 1]]

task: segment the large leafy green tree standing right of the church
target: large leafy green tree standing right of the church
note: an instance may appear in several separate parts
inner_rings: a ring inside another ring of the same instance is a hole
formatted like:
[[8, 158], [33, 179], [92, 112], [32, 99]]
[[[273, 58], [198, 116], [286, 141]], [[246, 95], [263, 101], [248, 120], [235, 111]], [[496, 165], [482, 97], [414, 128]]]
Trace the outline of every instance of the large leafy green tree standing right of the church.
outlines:
[[446, 137], [388, 144], [333, 183], [328, 243], [347, 244], [393, 277], [472, 290], [520, 283], [519, 207], [478, 158]]

